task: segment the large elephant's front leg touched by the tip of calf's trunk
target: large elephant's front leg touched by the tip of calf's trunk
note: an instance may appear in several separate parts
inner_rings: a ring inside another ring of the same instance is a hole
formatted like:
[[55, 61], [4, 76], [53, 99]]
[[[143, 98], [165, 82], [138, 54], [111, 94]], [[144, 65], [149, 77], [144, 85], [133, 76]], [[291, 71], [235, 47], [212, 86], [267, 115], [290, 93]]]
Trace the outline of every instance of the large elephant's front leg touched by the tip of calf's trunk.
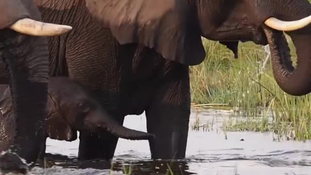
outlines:
[[[153, 159], [185, 158], [189, 117], [190, 84], [188, 67], [181, 66], [158, 89], [155, 99], [146, 110], [147, 131], [155, 134], [149, 141]], [[180, 77], [181, 76], [181, 77]]]

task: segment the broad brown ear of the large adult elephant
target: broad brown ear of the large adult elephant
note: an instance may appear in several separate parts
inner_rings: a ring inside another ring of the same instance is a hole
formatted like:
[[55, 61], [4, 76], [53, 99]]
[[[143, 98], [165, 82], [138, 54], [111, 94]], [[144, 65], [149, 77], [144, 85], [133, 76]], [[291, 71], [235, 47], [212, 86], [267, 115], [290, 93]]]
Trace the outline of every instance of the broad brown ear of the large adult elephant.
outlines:
[[139, 43], [185, 65], [205, 58], [196, 12], [188, 0], [86, 0], [93, 17], [120, 42]]

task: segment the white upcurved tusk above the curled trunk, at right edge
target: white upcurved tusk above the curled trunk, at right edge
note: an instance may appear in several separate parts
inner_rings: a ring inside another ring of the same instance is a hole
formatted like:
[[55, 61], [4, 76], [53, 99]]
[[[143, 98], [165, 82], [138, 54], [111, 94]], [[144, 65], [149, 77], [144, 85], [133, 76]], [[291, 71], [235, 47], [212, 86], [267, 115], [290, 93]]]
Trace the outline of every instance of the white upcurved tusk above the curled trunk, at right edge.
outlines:
[[267, 26], [284, 32], [294, 31], [306, 27], [311, 23], [311, 16], [295, 21], [282, 21], [277, 18], [268, 18], [264, 22]]

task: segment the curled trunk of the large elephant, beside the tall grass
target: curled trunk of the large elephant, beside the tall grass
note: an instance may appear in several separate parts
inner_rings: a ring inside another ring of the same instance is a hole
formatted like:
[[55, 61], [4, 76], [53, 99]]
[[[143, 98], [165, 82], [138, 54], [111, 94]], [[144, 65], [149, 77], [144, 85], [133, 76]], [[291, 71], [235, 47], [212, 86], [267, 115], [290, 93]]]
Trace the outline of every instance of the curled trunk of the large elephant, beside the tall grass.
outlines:
[[[288, 14], [295, 15], [283, 18], [297, 20], [311, 15], [311, 5], [308, 1], [297, 9], [299, 12], [288, 12]], [[296, 68], [293, 67], [290, 49], [283, 32], [267, 26], [263, 28], [270, 45], [273, 74], [279, 87], [286, 93], [295, 96], [311, 92], [311, 25], [287, 32], [296, 48]]]

